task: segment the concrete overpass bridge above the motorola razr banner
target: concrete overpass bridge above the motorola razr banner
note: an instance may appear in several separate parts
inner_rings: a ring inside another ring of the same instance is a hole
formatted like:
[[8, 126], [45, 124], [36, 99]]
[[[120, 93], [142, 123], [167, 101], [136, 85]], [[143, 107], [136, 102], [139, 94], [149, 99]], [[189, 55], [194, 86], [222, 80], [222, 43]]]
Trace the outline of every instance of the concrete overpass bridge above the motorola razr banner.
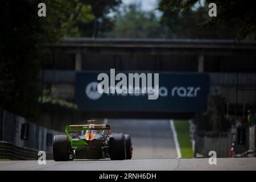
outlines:
[[232, 40], [63, 39], [47, 68], [236, 72], [255, 66], [256, 42]]

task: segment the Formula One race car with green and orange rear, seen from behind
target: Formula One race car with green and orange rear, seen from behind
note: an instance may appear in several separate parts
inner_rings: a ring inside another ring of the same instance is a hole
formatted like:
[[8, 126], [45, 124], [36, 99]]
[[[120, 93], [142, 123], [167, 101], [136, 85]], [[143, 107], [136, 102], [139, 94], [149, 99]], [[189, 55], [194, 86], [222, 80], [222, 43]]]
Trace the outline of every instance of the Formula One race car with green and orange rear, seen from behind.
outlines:
[[67, 135], [53, 138], [53, 159], [67, 161], [73, 159], [131, 159], [133, 147], [130, 135], [111, 133], [109, 125], [96, 125], [89, 120], [88, 125], [68, 125]]

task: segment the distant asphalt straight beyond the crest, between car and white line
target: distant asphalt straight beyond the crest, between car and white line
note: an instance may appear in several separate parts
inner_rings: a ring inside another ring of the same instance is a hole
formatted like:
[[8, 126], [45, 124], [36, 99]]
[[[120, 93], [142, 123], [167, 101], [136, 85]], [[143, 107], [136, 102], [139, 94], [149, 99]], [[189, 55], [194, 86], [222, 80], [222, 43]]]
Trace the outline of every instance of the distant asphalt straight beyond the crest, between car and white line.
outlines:
[[133, 159], [177, 158], [169, 120], [108, 119], [112, 133], [131, 135]]

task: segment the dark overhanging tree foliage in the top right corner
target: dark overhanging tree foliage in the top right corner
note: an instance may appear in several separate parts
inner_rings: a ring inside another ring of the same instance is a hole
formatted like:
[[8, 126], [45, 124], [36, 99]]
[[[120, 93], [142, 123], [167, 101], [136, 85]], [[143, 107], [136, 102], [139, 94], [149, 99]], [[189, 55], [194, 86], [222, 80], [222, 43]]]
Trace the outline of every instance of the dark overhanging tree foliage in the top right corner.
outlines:
[[[171, 21], [179, 19], [181, 15], [191, 13], [191, 8], [197, 2], [200, 1], [161, 0], [159, 3], [159, 9], [163, 11], [163, 22], [168, 24], [168, 26], [171, 26], [172, 23], [174, 23]], [[223, 36], [221, 34], [225, 35], [230, 31], [231, 35], [233, 36], [234, 34], [235, 38], [238, 40], [256, 38], [256, 7], [252, 6], [250, 2], [242, 0], [206, 1], [205, 6], [207, 8], [210, 2], [214, 2], [217, 5], [217, 17], [204, 17], [197, 23], [199, 27], [208, 27], [213, 25], [213, 31], [216, 30], [220, 32], [216, 38], [222, 38]], [[205, 15], [208, 15], [208, 11], [205, 11]], [[188, 16], [185, 17], [188, 18]], [[168, 18], [174, 19], [168, 20]], [[225, 35], [224, 37], [230, 38], [228, 35]]]

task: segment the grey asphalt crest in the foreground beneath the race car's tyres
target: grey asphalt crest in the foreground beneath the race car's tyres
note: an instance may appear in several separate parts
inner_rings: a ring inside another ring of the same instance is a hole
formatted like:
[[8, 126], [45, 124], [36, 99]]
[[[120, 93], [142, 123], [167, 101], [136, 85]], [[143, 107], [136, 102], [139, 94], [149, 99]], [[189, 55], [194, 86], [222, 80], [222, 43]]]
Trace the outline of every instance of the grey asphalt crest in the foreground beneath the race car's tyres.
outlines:
[[174, 171], [174, 170], [256, 170], [256, 158], [218, 158], [216, 165], [208, 159], [131, 159], [131, 160], [74, 160], [55, 162], [47, 160], [39, 165], [37, 160], [0, 161], [4, 170], [85, 170], [85, 171]]

